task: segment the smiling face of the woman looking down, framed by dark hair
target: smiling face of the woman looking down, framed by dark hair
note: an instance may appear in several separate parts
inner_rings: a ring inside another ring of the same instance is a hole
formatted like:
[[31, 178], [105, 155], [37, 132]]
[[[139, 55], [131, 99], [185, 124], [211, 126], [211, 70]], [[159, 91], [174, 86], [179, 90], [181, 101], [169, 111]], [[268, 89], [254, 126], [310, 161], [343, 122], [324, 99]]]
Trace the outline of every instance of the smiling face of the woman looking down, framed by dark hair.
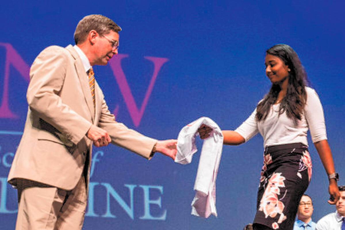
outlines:
[[289, 67], [277, 56], [266, 54], [266, 75], [272, 83], [283, 82], [289, 76]]

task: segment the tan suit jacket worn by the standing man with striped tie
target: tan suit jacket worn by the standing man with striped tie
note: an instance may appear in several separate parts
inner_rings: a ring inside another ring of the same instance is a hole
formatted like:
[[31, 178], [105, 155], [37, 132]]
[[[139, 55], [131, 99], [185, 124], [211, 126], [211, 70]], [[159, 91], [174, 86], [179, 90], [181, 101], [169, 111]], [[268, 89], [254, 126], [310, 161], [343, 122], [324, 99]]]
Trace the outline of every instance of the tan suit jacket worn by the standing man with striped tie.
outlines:
[[113, 144], [147, 159], [157, 141], [116, 122], [97, 82], [93, 106], [87, 74], [71, 45], [50, 46], [37, 56], [27, 100], [23, 136], [8, 175], [14, 186], [23, 178], [73, 189], [84, 165], [90, 165], [92, 142], [85, 134], [91, 124], [105, 129]]

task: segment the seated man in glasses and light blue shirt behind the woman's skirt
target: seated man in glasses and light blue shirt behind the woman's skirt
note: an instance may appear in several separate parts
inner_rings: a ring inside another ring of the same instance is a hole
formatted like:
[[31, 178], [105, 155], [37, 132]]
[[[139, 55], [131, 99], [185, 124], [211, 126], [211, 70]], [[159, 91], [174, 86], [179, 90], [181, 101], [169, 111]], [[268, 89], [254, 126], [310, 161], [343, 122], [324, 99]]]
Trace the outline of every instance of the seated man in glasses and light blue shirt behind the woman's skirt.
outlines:
[[312, 198], [303, 194], [298, 204], [294, 230], [315, 230], [316, 223], [312, 221], [313, 210]]

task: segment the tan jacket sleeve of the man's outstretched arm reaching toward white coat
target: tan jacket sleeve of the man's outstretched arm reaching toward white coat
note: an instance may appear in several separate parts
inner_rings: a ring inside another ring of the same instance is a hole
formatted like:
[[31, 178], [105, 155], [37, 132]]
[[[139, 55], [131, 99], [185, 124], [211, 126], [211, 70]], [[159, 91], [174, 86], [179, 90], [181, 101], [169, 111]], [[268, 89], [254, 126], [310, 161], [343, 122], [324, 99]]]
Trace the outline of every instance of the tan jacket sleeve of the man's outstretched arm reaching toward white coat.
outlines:
[[109, 133], [111, 143], [135, 152], [146, 159], [151, 159], [151, 151], [157, 140], [146, 137], [135, 130], [127, 128], [124, 124], [116, 122], [115, 116], [110, 113], [100, 89], [99, 92], [101, 93], [102, 102], [98, 126]]

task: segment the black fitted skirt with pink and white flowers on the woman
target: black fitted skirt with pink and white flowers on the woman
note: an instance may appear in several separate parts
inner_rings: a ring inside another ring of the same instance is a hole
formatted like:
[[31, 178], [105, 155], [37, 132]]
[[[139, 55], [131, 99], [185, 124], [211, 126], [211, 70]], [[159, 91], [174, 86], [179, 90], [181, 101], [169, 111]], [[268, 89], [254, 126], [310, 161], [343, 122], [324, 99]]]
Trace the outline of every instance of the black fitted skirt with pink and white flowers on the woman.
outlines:
[[311, 176], [312, 162], [304, 144], [266, 147], [254, 229], [292, 230], [299, 200]]

